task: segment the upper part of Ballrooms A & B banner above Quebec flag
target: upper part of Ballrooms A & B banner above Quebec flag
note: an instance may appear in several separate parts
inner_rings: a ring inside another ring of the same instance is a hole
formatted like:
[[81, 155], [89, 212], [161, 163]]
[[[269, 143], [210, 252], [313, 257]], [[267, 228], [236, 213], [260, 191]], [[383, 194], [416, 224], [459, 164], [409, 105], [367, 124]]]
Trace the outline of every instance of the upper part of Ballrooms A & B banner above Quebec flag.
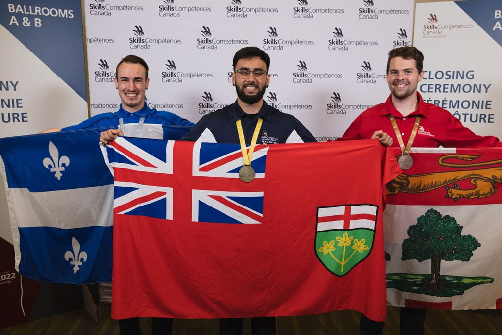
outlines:
[[79, 0], [0, 0], [2, 137], [87, 119], [83, 38]]

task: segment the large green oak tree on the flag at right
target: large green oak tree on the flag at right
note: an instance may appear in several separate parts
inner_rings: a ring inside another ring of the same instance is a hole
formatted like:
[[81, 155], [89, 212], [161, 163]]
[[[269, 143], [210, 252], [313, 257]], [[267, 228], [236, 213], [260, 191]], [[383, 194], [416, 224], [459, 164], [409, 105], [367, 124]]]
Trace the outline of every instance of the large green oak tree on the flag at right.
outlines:
[[431, 260], [431, 279], [426, 289], [440, 290], [441, 260], [467, 262], [481, 244], [471, 235], [462, 235], [454, 217], [441, 216], [435, 209], [429, 209], [417, 218], [417, 224], [408, 229], [409, 238], [402, 245], [401, 260], [416, 259], [419, 262]]

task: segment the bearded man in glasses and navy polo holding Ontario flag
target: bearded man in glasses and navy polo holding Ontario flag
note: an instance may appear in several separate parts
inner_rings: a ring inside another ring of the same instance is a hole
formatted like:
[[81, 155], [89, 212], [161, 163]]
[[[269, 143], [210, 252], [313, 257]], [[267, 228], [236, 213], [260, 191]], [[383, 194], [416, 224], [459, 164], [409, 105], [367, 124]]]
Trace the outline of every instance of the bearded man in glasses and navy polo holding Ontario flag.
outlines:
[[[237, 121], [240, 121], [245, 145], [249, 146], [255, 132], [257, 143], [316, 142], [312, 134], [289, 114], [269, 106], [263, 100], [269, 86], [269, 56], [257, 47], [245, 47], [233, 57], [232, 84], [237, 100], [205, 115], [181, 140], [213, 143], [239, 143]], [[259, 121], [262, 120], [262, 121]], [[261, 124], [261, 128], [257, 125]], [[275, 317], [251, 319], [253, 334], [275, 334]], [[242, 318], [220, 320], [220, 335], [238, 334]]]

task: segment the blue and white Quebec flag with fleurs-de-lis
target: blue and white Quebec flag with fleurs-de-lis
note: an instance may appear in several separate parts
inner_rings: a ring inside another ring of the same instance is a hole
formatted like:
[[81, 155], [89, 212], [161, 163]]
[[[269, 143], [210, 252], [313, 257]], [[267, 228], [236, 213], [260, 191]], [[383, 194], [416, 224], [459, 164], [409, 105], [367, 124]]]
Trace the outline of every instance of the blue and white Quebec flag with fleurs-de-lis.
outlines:
[[[189, 127], [165, 126], [179, 139]], [[111, 281], [113, 176], [103, 129], [0, 139], [16, 269], [53, 283]]]

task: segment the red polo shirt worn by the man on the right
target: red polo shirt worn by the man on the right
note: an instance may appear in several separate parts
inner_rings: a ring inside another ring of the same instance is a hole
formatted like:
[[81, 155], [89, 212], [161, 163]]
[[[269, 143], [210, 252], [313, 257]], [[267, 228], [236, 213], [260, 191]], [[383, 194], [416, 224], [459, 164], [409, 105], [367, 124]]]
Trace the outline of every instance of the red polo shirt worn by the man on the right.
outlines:
[[341, 139], [369, 139], [373, 132], [382, 130], [392, 136], [393, 146], [399, 146], [389, 119], [389, 116], [392, 115], [396, 119], [401, 137], [406, 145], [415, 124], [415, 117], [419, 116], [421, 117], [419, 130], [415, 141], [413, 141], [413, 147], [502, 147], [502, 142], [499, 142], [496, 137], [478, 136], [464, 127], [446, 109], [424, 102], [419, 92], [417, 92], [417, 99], [418, 109], [407, 117], [403, 117], [394, 108], [391, 95], [389, 95], [386, 102], [364, 110], [347, 128]]

